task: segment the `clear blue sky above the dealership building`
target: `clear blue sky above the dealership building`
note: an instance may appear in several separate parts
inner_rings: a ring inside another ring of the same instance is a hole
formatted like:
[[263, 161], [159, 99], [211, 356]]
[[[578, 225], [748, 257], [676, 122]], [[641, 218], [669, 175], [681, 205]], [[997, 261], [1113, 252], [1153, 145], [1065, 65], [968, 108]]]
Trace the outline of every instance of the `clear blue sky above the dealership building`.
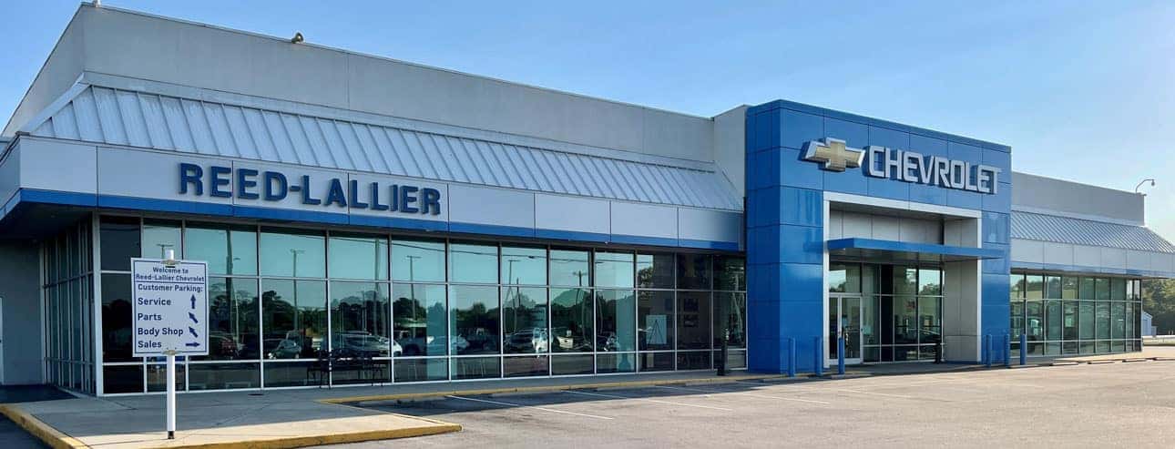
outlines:
[[[1021, 172], [1157, 179], [1148, 222], [1175, 240], [1170, 1], [105, 4], [696, 115], [787, 99], [1007, 143]], [[76, 7], [0, 5], [5, 119]]]

